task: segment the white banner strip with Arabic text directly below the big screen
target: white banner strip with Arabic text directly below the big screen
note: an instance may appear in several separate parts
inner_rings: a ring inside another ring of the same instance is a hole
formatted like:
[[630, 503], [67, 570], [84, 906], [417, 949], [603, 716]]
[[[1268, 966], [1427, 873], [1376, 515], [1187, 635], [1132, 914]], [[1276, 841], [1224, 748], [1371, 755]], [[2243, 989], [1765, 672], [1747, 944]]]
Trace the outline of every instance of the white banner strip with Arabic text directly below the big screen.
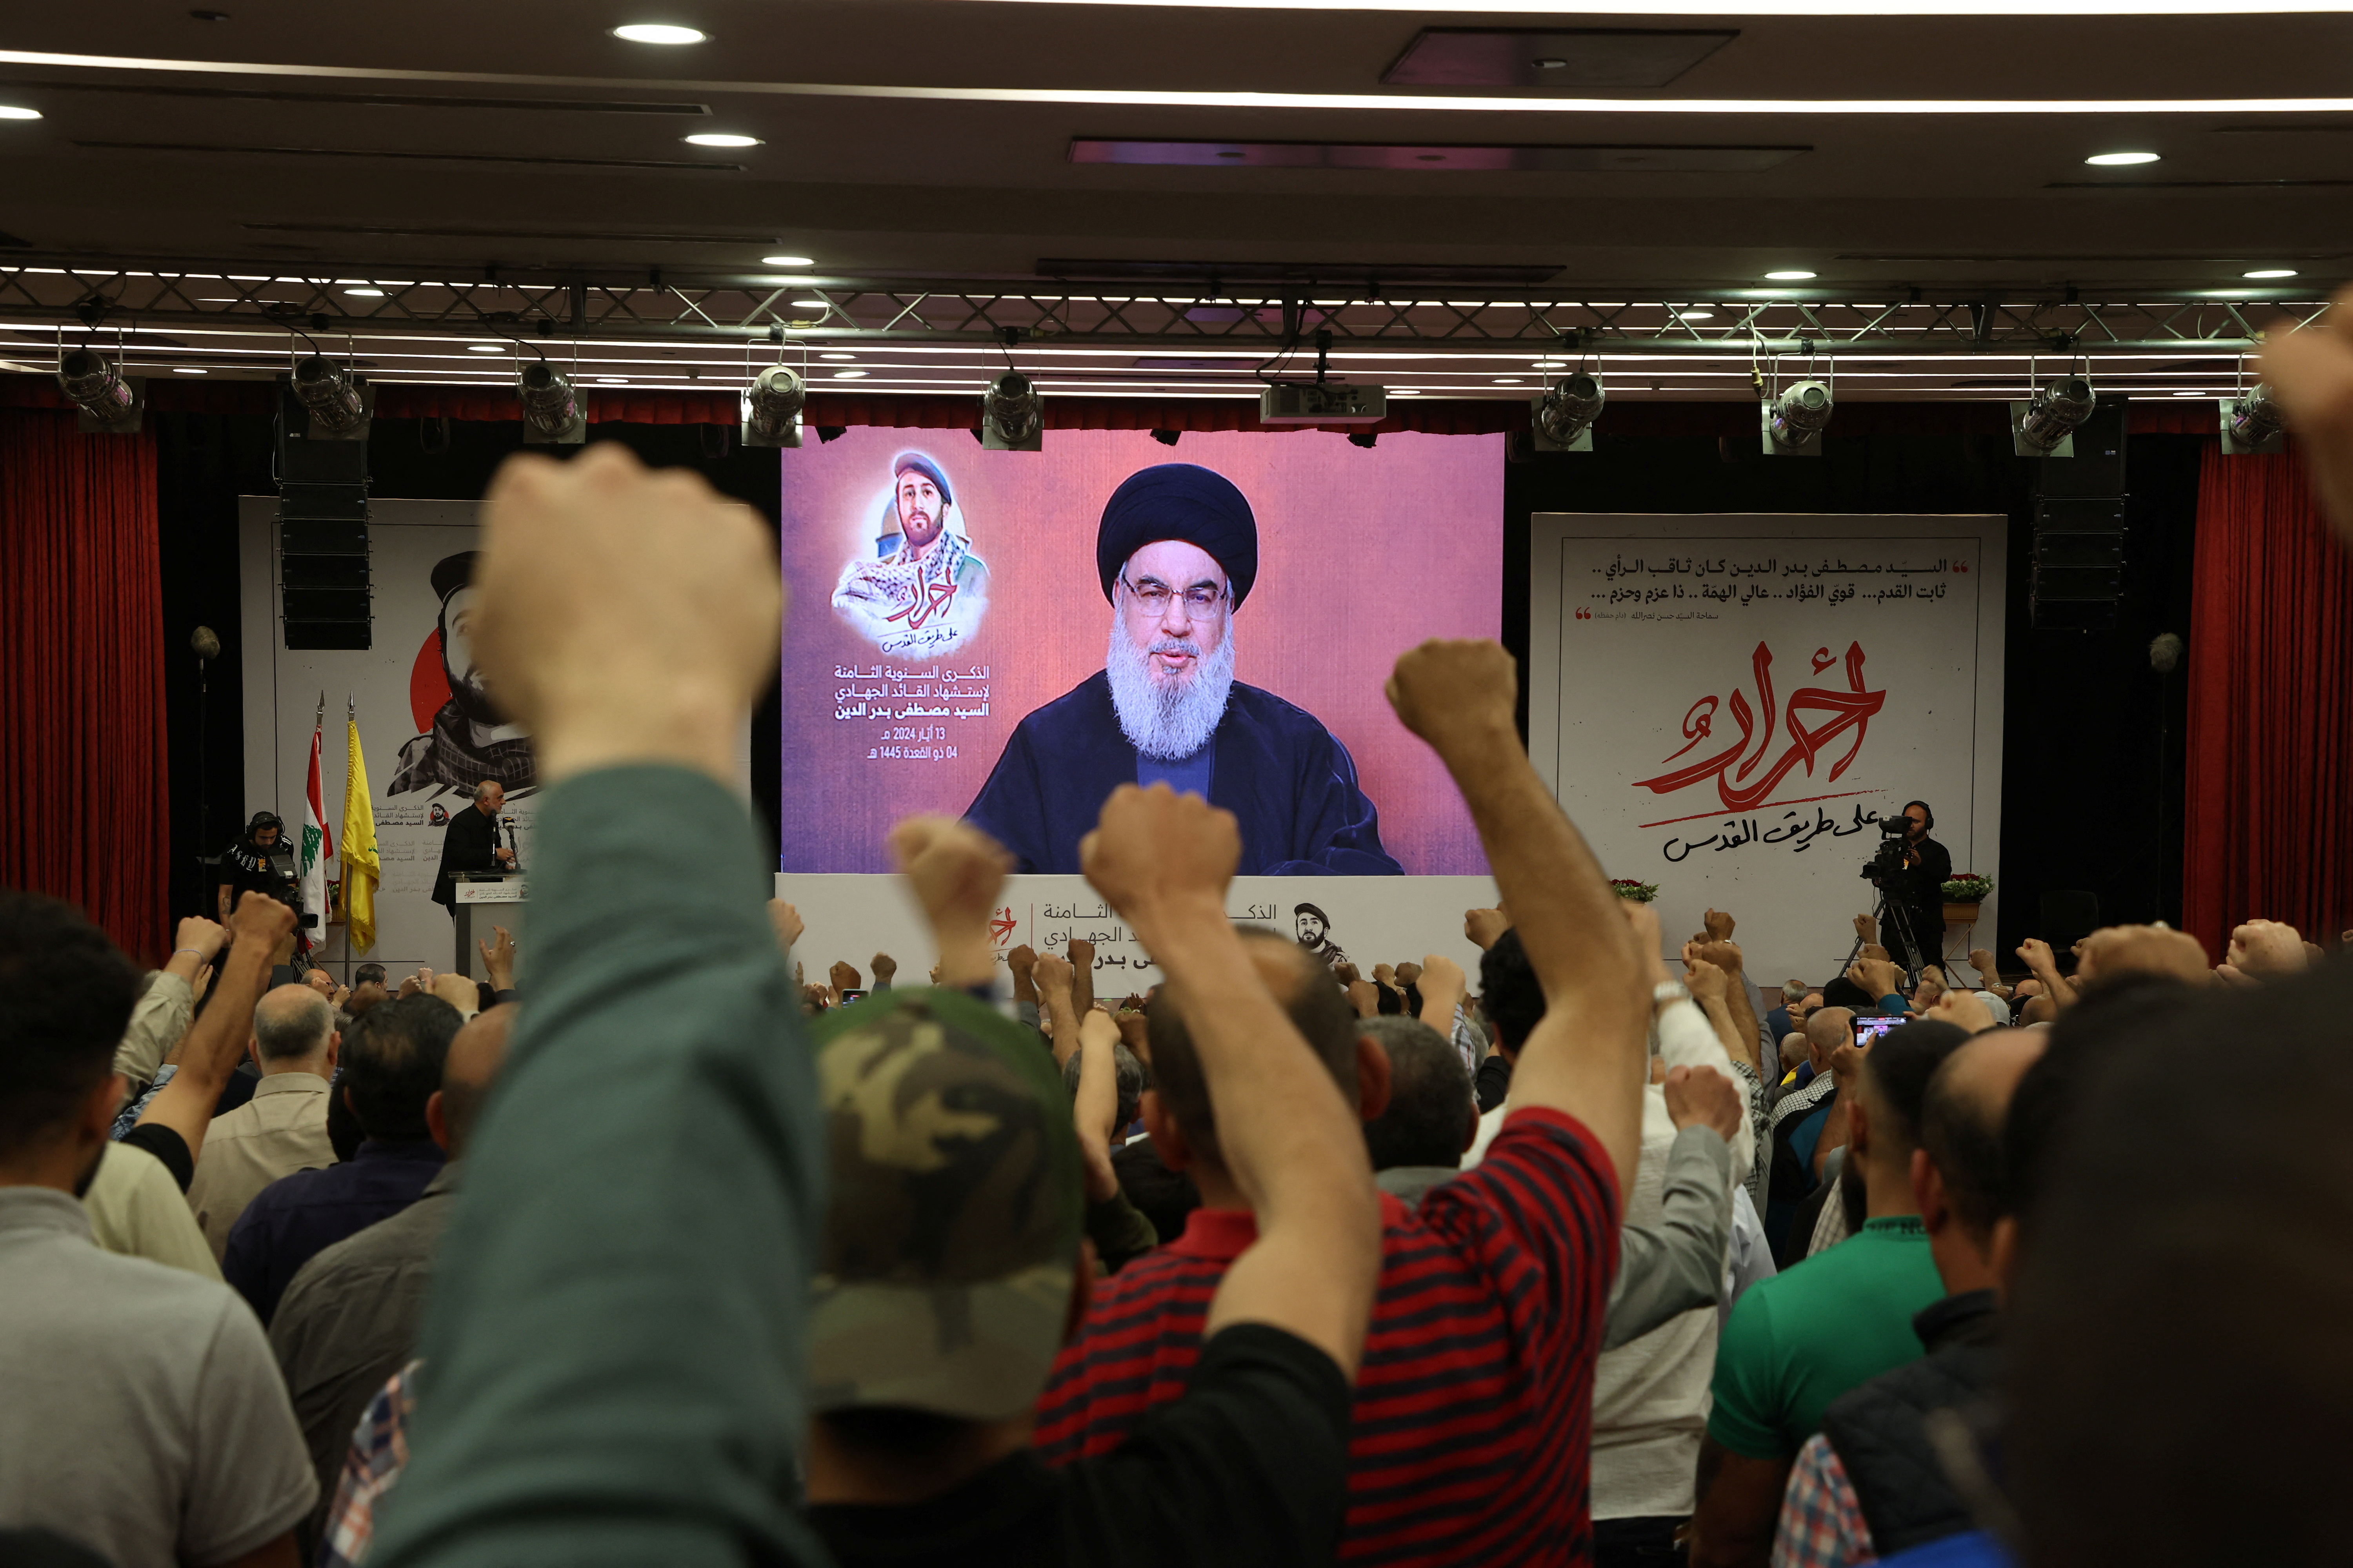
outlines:
[[[932, 969], [932, 938], [899, 877], [779, 872], [776, 898], [800, 910], [807, 933], [793, 952], [812, 983], [835, 959], [856, 966], [873, 985], [871, 959], [899, 959], [899, 983], [922, 985]], [[1421, 961], [1442, 952], [1464, 966], [1478, 990], [1478, 947], [1464, 938], [1464, 910], [1494, 905], [1487, 877], [1235, 877], [1226, 912], [1287, 936], [1318, 936], [1353, 959], [1365, 976], [1374, 964]], [[1306, 917], [1306, 919], [1304, 919]], [[1085, 877], [1009, 877], [991, 922], [998, 964], [1014, 947], [1061, 952], [1071, 938], [1094, 943], [1094, 994], [1118, 999], [1160, 985], [1160, 969]], [[1339, 961], [1337, 954], [1327, 954]]]

